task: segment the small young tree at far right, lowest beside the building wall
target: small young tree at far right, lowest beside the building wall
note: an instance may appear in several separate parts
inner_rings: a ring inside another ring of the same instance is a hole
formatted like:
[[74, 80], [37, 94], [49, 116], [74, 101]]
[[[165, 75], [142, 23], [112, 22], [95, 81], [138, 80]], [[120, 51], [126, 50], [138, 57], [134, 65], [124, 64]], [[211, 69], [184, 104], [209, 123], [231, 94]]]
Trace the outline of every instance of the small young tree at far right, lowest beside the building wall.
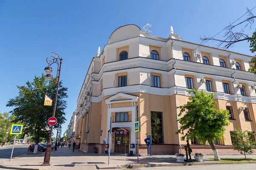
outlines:
[[253, 153], [253, 148], [255, 143], [254, 134], [251, 132], [248, 132], [248, 130], [242, 131], [242, 130], [234, 130], [234, 132], [231, 134], [233, 138], [236, 139], [236, 142], [233, 143], [234, 150], [238, 150], [241, 152], [244, 152], [244, 157], [246, 159], [246, 154], [250, 155]]

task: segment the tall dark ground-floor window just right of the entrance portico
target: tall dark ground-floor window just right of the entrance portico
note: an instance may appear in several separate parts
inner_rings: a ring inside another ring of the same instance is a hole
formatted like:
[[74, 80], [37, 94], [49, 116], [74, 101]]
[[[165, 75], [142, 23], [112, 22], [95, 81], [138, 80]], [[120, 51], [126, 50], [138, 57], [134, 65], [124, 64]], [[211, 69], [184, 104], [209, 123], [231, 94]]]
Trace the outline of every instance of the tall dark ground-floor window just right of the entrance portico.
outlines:
[[162, 112], [151, 111], [152, 144], [163, 144], [163, 117]]

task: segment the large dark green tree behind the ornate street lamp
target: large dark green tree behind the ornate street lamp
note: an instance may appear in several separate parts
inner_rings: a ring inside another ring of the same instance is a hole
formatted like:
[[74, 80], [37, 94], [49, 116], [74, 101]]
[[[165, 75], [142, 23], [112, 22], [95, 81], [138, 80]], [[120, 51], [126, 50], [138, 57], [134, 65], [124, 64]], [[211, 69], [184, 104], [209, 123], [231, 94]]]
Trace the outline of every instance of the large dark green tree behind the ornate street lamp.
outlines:
[[[41, 77], [35, 76], [33, 82], [26, 82], [26, 86], [17, 86], [19, 94], [13, 99], [10, 99], [6, 106], [15, 107], [11, 113], [16, 116], [16, 120], [23, 123], [24, 132], [32, 134], [32, 140], [35, 144], [39, 143], [40, 139], [49, 139], [50, 126], [47, 120], [52, 116], [53, 105], [44, 106], [44, 93], [48, 94], [52, 99], [55, 99], [56, 94], [56, 78], [47, 81], [44, 74]], [[63, 87], [62, 81], [59, 84], [57, 108], [55, 117], [59, 124], [63, 124], [65, 119], [64, 109], [67, 107], [67, 88]], [[37, 152], [35, 147], [34, 153]]]

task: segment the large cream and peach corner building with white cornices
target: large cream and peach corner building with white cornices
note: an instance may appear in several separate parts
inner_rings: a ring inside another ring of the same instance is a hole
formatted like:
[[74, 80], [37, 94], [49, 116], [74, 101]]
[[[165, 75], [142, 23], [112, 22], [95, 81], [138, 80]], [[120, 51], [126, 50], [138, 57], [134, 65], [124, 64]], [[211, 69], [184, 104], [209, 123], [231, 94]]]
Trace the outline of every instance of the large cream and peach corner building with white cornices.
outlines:
[[[195, 88], [214, 93], [219, 108], [230, 110], [225, 140], [215, 144], [219, 153], [237, 153], [230, 133], [239, 128], [254, 133], [256, 128], [256, 77], [247, 73], [251, 59], [182, 41], [172, 29], [168, 38], [162, 38], [135, 25], [119, 27], [84, 74], [74, 113], [75, 140], [85, 152], [98, 147], [104, 153], [112, 118], [111, 152], [136, 153], [130, 144], [136, 144], [138, 116], [140, 154], [147, 153], [147, 135], [152, 135], [152, 154], [177, 153], [186, 142], [175, 134], [179, 126], [176, 107], [189, 102], [186, 89]], [[212, 153], [197, 139], [191, 143], [194, 153]]]

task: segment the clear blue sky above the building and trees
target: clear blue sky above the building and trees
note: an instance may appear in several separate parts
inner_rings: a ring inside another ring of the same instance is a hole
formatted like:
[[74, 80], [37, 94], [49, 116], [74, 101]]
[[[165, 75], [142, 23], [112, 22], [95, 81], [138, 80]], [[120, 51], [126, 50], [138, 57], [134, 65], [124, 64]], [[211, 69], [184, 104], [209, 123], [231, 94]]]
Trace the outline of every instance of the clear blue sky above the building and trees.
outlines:
[[[53, 51], [63, 58], [61, 79], [68, 88], [64, 131], [92, 57], [119, 26], [151, 23], [151, 34], [165, 38], [173, 26], [182, 40], [200, 43], [254, 6], [255, 0], [0, 0], [0, 112], [12, 109], [6, 102], [17, 96], [16, 85], [41, 75]], [[247, 42], [230, 50], [252, 55]]]

